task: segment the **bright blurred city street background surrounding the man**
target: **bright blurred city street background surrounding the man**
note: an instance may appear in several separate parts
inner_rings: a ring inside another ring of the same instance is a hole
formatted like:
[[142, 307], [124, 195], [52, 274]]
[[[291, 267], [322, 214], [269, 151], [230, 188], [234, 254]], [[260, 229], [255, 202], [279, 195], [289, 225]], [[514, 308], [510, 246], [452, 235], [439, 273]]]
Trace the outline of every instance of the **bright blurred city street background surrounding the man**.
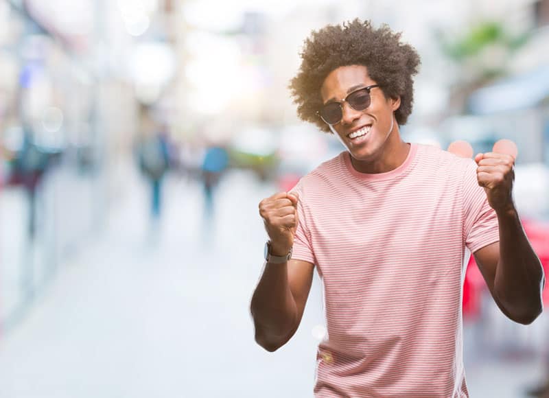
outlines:
[[[253, 340], [257, 206], [342, 151], [287, 86], [355, 17], [419, 51], [406, 141], [517, 143], [547, 272], [549, 0], [0, 0], [1, 398], [312, 397], [318, 275], [296, 336]], [[507, 320], [472, 261], [463, 312], [471, 397], [549, 381], [548, 314]]]

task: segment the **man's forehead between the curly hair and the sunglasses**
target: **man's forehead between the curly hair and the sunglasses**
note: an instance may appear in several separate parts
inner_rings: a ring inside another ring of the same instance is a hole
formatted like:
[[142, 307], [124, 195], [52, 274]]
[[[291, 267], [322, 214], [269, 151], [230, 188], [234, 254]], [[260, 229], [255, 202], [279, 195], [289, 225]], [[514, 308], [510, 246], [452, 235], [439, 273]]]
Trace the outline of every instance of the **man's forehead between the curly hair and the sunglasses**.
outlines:
[[375, 84], [368, 75], [368, 69], [363, 65], [349, 65], [346, 67], [338, 67], [331, 71], [322, 86], [320, 87], [320, 95], [323, 101], [332, 98], [344, 98], [349, 89], [355, 86], [366, 86]]

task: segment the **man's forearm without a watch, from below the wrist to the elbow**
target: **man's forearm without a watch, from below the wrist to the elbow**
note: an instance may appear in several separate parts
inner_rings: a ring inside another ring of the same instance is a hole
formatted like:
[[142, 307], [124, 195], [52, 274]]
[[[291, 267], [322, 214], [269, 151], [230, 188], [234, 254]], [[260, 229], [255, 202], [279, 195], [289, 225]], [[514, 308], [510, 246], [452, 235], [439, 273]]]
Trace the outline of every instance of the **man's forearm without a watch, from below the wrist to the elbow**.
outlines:
[[544, 270], [524, 233], [517, 211], [498, 212], [500, 261], [494, 292], [519, 323], [531, 323], [542, 311]]

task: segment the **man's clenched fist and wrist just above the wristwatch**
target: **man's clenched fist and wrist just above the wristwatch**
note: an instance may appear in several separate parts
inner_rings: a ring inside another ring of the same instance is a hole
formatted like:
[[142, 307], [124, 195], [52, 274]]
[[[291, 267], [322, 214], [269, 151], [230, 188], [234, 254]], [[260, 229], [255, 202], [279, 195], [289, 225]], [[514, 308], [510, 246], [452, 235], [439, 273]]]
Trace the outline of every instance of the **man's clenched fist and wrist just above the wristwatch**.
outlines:
[[294, 246], [297, 224], [297, 194], [279, 192], [259, 202], [259, 215], [271, 242], [272, 255], [284, 256]]

